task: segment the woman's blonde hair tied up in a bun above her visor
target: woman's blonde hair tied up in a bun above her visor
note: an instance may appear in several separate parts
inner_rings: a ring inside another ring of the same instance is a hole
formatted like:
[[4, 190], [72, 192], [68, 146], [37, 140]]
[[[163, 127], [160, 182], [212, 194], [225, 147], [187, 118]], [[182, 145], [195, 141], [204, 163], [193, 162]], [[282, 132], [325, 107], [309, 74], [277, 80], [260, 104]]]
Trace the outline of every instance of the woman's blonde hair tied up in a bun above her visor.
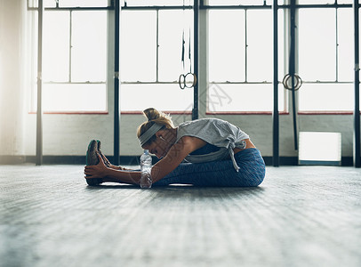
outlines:
[[[147, 117], [148, 121], [143, 122], [137, 130], [137, 137], [139, 138], [141, 134], [144, 134], [148, 129], [154, 125], [163, 125], [162, 129], [165, 127], [167, 129], [174, 128], [172, 117], [169, 114], [165, 114], [162, 111], [158, 111], [154, 108], [148, 108], [143, 110], [143, 115]], [[148, 142], [153, 142], [156, 139], [156, 136], [153, 135]], [[147, 142], [147, 143], [148, 143]]]

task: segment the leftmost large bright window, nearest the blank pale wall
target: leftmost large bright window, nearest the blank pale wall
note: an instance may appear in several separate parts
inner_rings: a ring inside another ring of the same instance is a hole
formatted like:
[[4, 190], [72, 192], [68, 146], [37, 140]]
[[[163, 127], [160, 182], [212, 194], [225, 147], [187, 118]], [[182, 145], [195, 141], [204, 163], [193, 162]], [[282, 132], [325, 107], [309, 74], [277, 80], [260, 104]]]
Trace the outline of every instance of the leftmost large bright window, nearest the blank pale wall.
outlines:
[[[104, 0], [44, 1], [44, 112], [107, 111], [107, 11], [71, 8], [106, 4]], [[33, 85], [31, 110], [36, 111]]]

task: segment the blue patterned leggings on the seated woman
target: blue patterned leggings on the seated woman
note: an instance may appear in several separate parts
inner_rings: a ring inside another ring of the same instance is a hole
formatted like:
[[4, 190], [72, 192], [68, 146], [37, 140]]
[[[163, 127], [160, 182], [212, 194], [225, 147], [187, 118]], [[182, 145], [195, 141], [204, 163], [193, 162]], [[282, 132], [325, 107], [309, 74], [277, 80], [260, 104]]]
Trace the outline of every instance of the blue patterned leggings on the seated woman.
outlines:
[[241, 150], [235, 155], [239, 171], [231, 159], [205, 163], [181, 163], [171, 174], [155, 182], [153, 186], [171, 183], [193, 184], [195, 186], [258, 186], [266, 174], [261, 153], [257, 149]]

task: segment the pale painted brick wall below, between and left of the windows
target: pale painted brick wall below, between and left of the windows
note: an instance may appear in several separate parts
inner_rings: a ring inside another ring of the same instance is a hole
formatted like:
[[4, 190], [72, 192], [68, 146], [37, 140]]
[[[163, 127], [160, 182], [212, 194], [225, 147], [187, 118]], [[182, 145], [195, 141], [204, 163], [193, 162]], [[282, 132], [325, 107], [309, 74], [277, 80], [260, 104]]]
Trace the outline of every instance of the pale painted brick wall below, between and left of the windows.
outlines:
[[[25, 82], [25, 18], [26, 0], [0, 0], [0, 156], [33, 156], [36, 154], [36, 115], [28, 113], [29, 85]], [[113, 20], [109, 15], [109, 21]], [[204, 14], [200, 20], [205, 21]], [[202, 24], [201, 36], [205, 36], [206, 24]], [[114, 29], [109, 23], [109, 36]], [[205, 48], [205, 38], [200, 40]], [[113, 48], [108, 44], [108, 115], [54, 115], [44, 114], [44, 155], [84, 155], [91, 139], [102, 141], [102, 150], [113, 154]], [[206, 50], [200, 53], [201, 66], [206, 66]], [[201, 70], [199, 80], [200, 117], [205, 116], [206, 71]], [[272, 101], [272, 100], [269, 100]], [[149, 103], [149, 106], [152, 106]], [[148, 107], [144, 107], [148, 108]], [[156, 108], [156, 107], [155, 107]], [[217, 116], [239, 125], [250, 134], [263, 156], [272, 156], [271, 115]], [[190, 116], [174, 115], [177, 123]], [[141, 115], [121, 117], [121, 155], [140, 155], [136, 129], [144, 121]], [[298, 116], [301, 131], [341, 132], [342, 156], [352, 156], [353, 117], [350, 115], [301, 115]], [[293, 149], [292, 115], [280, 116], [280, 156], [297, 156]]]

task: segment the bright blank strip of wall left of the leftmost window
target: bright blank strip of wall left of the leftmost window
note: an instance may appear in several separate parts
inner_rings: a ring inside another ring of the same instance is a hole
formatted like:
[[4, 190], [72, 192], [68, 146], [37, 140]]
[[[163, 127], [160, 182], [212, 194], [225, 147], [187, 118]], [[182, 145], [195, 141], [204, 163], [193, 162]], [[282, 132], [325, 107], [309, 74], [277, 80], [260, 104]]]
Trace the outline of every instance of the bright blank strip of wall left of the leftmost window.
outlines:
[[24, 154], [24, 4], [0, 1], [0, 155]]

